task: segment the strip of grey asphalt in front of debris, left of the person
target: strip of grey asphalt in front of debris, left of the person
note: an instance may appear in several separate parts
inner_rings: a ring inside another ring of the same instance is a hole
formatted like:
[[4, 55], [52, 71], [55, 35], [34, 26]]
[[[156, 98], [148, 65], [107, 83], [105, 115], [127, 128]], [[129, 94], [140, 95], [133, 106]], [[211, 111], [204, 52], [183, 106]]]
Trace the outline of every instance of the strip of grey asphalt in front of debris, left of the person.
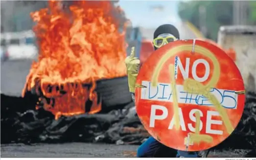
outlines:
[[137, 145], [65, 143], [1, 144], [1, 158], [136, 157]]

